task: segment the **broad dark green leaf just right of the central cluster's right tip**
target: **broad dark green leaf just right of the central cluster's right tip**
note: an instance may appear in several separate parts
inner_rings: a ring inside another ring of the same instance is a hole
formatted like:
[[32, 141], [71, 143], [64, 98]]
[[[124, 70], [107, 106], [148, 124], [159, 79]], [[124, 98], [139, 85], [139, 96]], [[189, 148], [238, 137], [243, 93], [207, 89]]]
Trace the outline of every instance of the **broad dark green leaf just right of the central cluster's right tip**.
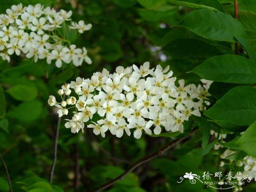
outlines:
[[236, 125], [251, 125], [256, 120], [256, 89], [240, 86], [231, 89], [204, 115]]

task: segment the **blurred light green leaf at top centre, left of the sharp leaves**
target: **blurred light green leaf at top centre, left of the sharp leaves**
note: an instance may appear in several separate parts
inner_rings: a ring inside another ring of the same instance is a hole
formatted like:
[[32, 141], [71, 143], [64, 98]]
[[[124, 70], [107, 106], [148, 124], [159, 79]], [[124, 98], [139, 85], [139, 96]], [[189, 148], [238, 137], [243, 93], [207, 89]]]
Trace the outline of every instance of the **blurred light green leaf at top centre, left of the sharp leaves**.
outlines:
[[172, 17], [177, 13], [178, 7], [164, 5], [162, 7], [148, 9], [137, 9], [138, 14], [148, 22], [157, 22], [169, 17]]

